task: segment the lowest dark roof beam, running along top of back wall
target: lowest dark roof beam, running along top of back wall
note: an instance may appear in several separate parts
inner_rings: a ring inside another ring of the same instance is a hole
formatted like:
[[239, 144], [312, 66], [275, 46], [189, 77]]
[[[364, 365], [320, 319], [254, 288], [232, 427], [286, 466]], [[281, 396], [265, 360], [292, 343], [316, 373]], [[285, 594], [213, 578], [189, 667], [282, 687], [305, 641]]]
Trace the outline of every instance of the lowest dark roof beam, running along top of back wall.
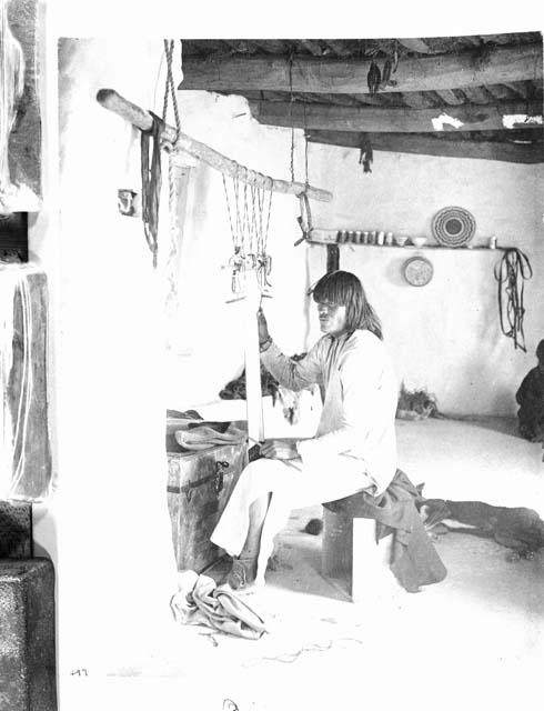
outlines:
[[441, 156], [445, 158], [478, 158], [500, 160], [510, 163], [544, 162], [544, 146], [536, 142], [531, 146], [506, 141], [471, 141], [460, 139], [440, 140], [434, 136], [413, 136], [410, 133], [350, 133], [347, 131], [308, 131], [312, 143], [325, 143], [344, 148], [360, 149], [362, 137], [370, 139], [374, 151], [395, 153], [416, 153]]

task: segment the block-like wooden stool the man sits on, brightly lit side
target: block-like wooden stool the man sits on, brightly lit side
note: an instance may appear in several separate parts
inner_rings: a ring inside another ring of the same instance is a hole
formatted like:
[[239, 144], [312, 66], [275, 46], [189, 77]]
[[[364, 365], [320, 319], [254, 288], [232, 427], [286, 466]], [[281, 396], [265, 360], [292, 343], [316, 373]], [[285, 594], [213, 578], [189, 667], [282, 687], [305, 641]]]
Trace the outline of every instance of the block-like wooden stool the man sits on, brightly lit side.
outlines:
[[374, 519], [323, 508], [323, 575], [346, 584], [353, 602], [375, 604], [402, 590], [390, 570], [393, 537], [376, 543]]

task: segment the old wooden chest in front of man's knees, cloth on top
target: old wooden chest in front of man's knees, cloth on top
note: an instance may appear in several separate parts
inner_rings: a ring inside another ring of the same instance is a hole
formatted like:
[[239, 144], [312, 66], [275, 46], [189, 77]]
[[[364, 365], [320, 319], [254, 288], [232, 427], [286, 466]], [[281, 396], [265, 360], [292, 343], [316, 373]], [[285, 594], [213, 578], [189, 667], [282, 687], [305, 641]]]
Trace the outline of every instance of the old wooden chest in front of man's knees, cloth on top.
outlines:
[[168, 505], [179, 570], [200, 573], [222, 555], [210, 535], [245, 463], [245, 442], [168, 452]]

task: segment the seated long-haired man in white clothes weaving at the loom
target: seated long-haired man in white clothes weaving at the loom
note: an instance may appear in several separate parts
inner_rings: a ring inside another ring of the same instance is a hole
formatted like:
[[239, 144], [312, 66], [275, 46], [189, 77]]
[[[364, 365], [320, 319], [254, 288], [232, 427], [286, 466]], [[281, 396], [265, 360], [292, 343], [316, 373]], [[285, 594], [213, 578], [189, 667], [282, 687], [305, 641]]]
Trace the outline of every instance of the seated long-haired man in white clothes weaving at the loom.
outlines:
[[382, 493], [396, 472], [397, 383], [380, 320], [349, 272], [325, 274], [313, 299], [324, 336], [299, 362], [281, 353], [259, 314], [264, 365], [291, 390], [319, 383], [324, 401], [314, 438], [261, 445], [211, 537], [233, 557], [228, 582], [235, 590], [264, 582], [273, 539], [292, 509]]

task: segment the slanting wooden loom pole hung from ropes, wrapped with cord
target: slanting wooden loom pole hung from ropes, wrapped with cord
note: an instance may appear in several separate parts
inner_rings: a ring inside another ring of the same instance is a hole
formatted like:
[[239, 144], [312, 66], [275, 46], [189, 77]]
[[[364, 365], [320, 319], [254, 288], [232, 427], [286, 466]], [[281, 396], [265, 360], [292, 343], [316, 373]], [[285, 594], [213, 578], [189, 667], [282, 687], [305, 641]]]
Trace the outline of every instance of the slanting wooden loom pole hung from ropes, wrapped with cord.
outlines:
[[[131, 103], [113, 89], [100, 89], [97, 93], [97, 101], [104, 109], [113, 111], [113, 113], [122, 117], [142, 131], [149, 131], [153, 124], [153, 118], [149, 111]], [[268, 176], [263, 176], [262, 173], [240, 166], [236, 161], [222, 156], [205, 143], [195, 141], [185, 133], [180, 132], [178, 140], [175, 137], [175, 129], [164, 123], [161, 132], [161, 138], [164, 141], [172, 144], [175, 142], [177, 150], [183, 151], [193, 158], [198, 158], [211, 168], [219, 170], [221, 173], [231, 176], [232, 178], [238, 178], [241, 182], [256, 186], [260, 189], [272, 192], [282, 192], [284, 194], [300, 196], [305, 192], [305, 194], [312, 200], [320, 200], [321, 202], [330, 202], [332, 200], [332, 193], [328, 190], [313, 188], [312, 186], [306, 186], [302, 182], [290, 182], [288, 180], [269, 178]]]

